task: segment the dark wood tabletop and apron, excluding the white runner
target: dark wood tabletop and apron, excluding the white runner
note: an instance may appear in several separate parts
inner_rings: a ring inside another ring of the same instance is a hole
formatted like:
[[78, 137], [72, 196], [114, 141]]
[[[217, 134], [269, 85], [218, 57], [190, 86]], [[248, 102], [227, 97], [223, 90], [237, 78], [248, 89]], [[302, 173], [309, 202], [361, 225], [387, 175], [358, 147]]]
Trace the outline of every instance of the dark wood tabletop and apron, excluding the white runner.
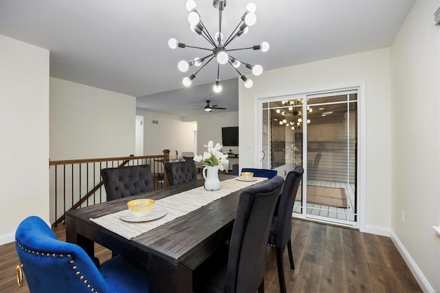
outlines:
[[[219, 177], [221, 180], [226, 180], [235, 176], [219, 175]], [[162, 199], [203, 186], [203, 182], [203, 180], [197, 180], [188, 182], [188, 184], [170, 186], [150, 193], [133, 195], [95, 206], [71, 210], [66, 215], [67, 241], [80, 245], [82, 239], [94, 241], [115, 253], [122, 254], [142, 265], [147, 265], [147, 267], [149, 267], [148, 257], [150, 254], [154, 254], [171, 264], [179, 263], [190, 270], [194, 270], [221, 243], [229, 239], [241, 191], [217, 199], [131, 240], [91, 222], [90, 218], [125, 210], [127, 208], [126, 202], [131, 199]], [[93, 248], [91, 249], [93, 250]]]

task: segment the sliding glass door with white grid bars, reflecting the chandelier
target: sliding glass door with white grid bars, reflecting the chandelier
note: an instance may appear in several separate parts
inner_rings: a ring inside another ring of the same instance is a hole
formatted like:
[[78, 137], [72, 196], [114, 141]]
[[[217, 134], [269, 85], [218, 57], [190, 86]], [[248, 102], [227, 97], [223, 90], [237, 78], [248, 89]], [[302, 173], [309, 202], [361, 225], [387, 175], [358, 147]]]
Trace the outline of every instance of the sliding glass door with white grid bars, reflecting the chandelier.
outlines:
[[261, 101], [260, 167], [304, 166], [294, 215], [357, 226], [358, 91]]

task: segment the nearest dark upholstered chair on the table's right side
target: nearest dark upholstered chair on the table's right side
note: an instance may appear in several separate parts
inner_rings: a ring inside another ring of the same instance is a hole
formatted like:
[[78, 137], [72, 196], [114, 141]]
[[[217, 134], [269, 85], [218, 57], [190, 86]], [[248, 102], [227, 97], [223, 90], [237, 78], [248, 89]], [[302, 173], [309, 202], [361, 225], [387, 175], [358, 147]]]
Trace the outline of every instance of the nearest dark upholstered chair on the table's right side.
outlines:
[[267, 237], [283, 184], [276, 176], [241, 192], [230, 245], [195, 270], [194, 292], [264, 292]]

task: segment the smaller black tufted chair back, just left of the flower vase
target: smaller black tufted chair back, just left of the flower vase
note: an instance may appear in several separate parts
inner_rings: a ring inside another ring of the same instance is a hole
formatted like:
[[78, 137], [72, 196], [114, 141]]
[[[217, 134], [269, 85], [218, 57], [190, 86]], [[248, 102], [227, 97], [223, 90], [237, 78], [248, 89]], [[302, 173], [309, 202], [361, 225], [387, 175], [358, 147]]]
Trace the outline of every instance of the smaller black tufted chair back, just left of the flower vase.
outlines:
[[197, 180], [197, 170], [193, 160], [166, 163], [165, 171], [170, 186]]

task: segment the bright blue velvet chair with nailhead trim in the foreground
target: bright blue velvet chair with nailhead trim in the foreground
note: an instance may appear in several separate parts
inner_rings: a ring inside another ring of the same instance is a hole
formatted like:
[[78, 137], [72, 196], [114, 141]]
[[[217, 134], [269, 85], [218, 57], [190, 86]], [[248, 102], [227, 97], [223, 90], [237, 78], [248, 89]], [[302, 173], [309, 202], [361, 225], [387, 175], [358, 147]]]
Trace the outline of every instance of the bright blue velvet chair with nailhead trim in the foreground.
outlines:
[[83, 248], [58, 240], [39, 217], [21, 222], [15, 245], [30, 292], [148, 292], [146, 270], [120, 256], [98, 267]]

